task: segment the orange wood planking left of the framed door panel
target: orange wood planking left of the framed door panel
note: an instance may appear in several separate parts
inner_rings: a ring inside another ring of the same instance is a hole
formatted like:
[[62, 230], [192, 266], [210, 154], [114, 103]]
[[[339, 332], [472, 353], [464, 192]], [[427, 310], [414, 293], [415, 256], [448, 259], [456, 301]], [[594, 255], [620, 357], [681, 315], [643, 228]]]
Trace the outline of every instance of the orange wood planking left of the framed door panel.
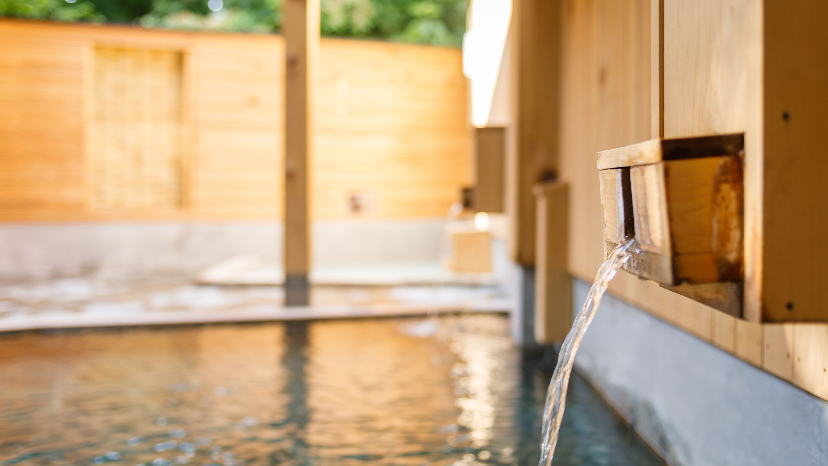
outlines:
[[[0, 28], [0, 209], [84, 209], [84, 49]], [[74, 115], [75, 118], [67, 118]]]

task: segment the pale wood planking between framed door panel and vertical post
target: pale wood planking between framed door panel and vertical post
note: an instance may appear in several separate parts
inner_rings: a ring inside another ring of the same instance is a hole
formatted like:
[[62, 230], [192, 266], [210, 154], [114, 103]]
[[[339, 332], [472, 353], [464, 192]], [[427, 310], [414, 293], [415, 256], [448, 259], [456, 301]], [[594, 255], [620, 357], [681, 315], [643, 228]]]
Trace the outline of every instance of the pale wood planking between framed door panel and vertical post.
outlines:
[[282, 37], [196, 37], [188, 54], [194, 69], [189, 210], [196, 218], [281, 218]]

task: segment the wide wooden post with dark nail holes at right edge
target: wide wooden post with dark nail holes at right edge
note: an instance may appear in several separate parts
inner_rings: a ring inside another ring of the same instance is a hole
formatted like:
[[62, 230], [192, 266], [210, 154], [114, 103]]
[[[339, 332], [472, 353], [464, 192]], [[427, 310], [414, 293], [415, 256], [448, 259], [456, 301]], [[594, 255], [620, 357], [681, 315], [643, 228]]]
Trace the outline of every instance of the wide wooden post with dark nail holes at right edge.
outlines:
[[828, 321], [826, 18], [826, 2], [765, 2], [763, 321]]

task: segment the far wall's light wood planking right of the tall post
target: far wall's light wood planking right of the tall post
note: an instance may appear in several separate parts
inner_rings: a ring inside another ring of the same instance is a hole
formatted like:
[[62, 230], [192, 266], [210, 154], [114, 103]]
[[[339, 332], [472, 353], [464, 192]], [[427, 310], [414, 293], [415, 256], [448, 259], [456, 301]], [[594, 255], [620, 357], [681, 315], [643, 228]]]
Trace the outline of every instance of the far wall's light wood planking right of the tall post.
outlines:
[[471, 183], [466, 102], [459, 50], [323, 40], [313, 217], [350, 216], [353, 194], [373, 217], [445, 216]]

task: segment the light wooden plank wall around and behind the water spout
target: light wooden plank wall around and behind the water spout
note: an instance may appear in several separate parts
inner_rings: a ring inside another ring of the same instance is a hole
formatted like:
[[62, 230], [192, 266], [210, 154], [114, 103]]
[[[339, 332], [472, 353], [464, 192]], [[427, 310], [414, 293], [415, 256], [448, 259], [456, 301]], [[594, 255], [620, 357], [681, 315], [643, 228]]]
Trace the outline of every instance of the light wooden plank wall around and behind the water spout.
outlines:
[[[763, 123], [756, 121], [762, 115], [763, 98], [755, 94], [761, 89], [757, 73], [761, 73], [763, 53], [758, 35], [763, 21], [758, 0], [663, 3], [665, 137], [744, 131], [748, 152], [746, 190], [758, 190], [761, 195], [761, 184], [768, 175], [758, 170], [763, 160], [763, 137], [767, 137], [763, 136]], [[651, 0], [566, 0], [561, 4], [561, 174], [570, 182], [569, 267], [572, 275], [592, 281], [603, 259], [595, 152], [652, 137]], [[773, 118], [777, 116], [773, 114]], [[810, 118], [811, 123], [822, 121], [816, 115]], [[784, 171], [777, 173], [784, 176]], [[816, 204], [821, 205], [808, 205]], [[761, 211], [761, 203], [758, 209]], [[809, 225], [825, 218], [797, 212], [809, 219]], [[761, 216], [753, 215], [753, 223], [762, 221]], [[746, 221], [748, 217], [746, 212]], [[767, 219], [765, 223], [767, 228]], [[749, 247], [753, 247], [750, 240]], [[811, 247], [821, 244], [812, 242]], [[811, 270], [808, 273], [816, 274], [811, 277], [825, 275]], [[799, 280], [806, 278], [801, 276]], [[772, 285], [765, 281], [765, 286]], [[760, 324], [735, 319], [626, 272], [610, 282], [609, 291], [828, 399], [828, 324]], [[825, 305], [824, 300], [821, 305]]]

